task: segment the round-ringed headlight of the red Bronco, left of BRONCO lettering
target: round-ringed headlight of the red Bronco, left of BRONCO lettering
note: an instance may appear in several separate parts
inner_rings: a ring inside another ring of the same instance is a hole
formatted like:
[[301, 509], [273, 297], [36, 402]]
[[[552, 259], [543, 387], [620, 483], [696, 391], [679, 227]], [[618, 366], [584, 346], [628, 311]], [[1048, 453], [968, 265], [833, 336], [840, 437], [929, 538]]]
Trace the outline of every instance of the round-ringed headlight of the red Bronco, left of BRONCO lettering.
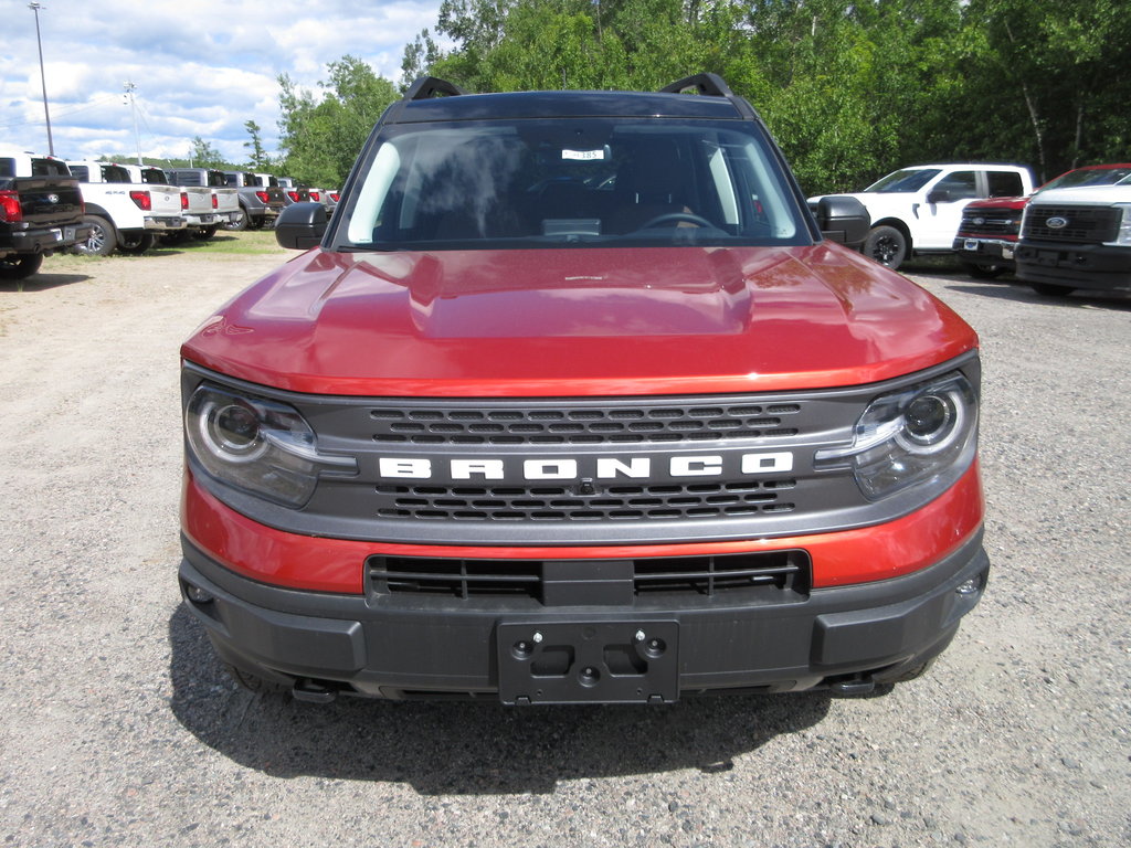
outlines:
[[228, 485], [285, 507], [302, 507], [319, 474], [355, 474], [352, 457], [318, 451], [314, 431], [296, 409], [201, 383], [184, 413], [189, 448]]

